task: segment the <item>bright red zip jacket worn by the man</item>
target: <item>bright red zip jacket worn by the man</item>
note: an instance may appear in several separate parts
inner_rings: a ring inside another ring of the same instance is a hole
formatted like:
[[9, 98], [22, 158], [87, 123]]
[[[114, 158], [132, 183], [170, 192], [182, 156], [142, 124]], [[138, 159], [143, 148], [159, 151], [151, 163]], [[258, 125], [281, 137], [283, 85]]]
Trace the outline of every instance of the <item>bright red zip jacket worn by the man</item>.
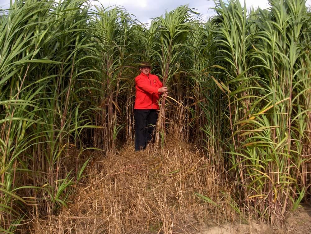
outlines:
[[160, 93], [158, 89], [163, 87], [159, 77], [142, 72], [135, 78], [136, 99], [134, 109], [159, 109], [158, 101]]

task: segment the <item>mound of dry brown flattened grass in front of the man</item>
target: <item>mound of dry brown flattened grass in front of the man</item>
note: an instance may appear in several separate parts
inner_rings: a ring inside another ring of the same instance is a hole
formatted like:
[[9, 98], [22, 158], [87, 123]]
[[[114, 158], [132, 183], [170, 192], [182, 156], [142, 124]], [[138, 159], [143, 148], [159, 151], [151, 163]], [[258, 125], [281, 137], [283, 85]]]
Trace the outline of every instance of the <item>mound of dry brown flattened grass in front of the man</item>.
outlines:
[[[97, 156], [59, 215], [37, 219], [31, 233], [195, 233], [204, 219], [229, 218], [233, 211], [220, 180], [202, 152], [168, 139], [158, 153]], [[207, 203], [195, 193], [218, 201]]]

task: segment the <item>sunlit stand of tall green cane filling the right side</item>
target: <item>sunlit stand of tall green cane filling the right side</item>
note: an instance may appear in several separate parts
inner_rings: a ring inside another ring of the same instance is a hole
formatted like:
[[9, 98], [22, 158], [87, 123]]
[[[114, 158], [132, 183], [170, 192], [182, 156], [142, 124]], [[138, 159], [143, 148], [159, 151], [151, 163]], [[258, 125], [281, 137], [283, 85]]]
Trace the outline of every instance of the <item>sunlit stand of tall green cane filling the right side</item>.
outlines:
[[304, 1], [271, 4], [250, 20], [239, 2], [216, 5], [218, 65], [225, 72], [214, 81], [228, 97], [227, 136], [243, 202], [274, 223], [306, 189], [299, 181], [306, 181], [310, 160], [302, 143], [308, 142], [310, 65]]

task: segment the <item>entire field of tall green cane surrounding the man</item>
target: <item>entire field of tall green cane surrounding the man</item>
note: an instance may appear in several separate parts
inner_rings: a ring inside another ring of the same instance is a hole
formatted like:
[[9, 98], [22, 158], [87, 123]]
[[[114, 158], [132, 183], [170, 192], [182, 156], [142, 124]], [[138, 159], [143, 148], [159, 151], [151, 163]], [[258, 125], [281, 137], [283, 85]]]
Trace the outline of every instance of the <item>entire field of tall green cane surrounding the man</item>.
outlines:
[[304, 0], [250, 12], [218, 0], [214, 11], [202, 23], [180, 6], [146, 27], [81, 0], [2, 10], [1, 232], [57, 213], [94, 154], [133, 143], [145, 60], [169, 87], [153, 152], [167, 134], [204, 151], [236, 186], [225, 195], [234, 210], [271, 224], [310, 200], [310, 10]]

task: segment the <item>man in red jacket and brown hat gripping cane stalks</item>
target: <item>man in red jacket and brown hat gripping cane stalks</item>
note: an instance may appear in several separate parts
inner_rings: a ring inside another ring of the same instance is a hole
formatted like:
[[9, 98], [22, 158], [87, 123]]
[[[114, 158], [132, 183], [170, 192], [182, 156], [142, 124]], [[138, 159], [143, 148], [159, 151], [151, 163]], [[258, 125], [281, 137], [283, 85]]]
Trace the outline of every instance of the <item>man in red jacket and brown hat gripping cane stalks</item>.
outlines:
[[163, 87], [159, 77], [150, 74], [149, 62], [142, 62], [140, 74], [135, 78], [136, 99], [134, 106], [135, 151], [145, 149], [153, 140], [154, 126], [158, 119], [160, 95], [167, 97], [167, 87]]

